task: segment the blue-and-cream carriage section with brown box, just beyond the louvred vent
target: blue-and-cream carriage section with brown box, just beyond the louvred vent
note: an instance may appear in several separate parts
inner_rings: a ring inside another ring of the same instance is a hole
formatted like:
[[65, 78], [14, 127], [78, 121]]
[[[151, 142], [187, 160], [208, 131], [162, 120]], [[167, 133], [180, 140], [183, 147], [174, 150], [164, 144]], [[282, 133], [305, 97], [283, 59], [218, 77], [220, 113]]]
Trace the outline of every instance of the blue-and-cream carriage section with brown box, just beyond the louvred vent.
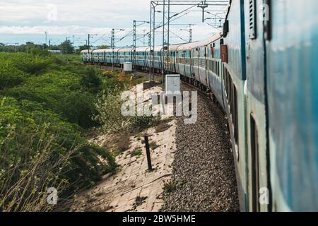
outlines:
[[[254, 166], [250, 163], [250, 156], [247, 151], [247, 114], [246, 102], [249, 93], [246, 89], [246, 64], [245, 64], [245, 23], [244, 21], [244, 0], [233, 0], [228, 6], [228, 13], [226, 15], [225, 24], [223, 27], [222, 38], [216, 43], [216, 47], [220, 46], [221, 58], [221, 79], [223, 87], [223, 101], [225, 112], [228, 116], [228, 124], [230, 129], [230, 136], [232, 141], [232, 152], [235, 157], [235, 169], [237, 175], [237, 187], [240, 197], [240, 207], [242, 211], [252, 210], [250, 202], [254, 196], [251, 195], [250, 190], [252, 183], [250, 182], [251, 174]], [[250, 72], [250, 76], [253, 73]], [[261, 76], [261, 75], [260, 75]], [[252, 100], [254, 102], [254, 99]], [[264, 109], [261, 107], [260, 109]], [[258, 115], [257, 112], [254, 112]], [[264, 115], [264, 112], [261, 113]], [[259, 118], [258, 123], [261, 126], [266, 125], [261, 121], [263, 117]], [[260, 127], [260, 129], [263, 127]], [[259, 150], [265, 151], [266, 133], [259, 131]], [[262, 137], [261, 137], [262, 136]], [[248, 163], [249, 162], [249, 163]], [[265, 170], [266, 167], [262, 170]], [[264, 186], [266, 186], [265, 184]]]

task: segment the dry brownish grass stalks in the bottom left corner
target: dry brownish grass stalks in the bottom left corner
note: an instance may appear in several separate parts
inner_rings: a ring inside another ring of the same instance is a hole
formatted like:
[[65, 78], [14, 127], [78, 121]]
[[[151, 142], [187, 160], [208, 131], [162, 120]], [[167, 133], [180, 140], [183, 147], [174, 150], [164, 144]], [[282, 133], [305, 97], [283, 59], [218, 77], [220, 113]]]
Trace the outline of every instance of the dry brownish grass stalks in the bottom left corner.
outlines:
[[[54, 139], [55, 137], [51, 136], [47, 142], [41, 139], [37, 143], [36, 153], [38, 154], [33, 161], [21, 162], [9, 168], [4, 161], [1, 162], [1, 169], [7, 170], [0, 174], [0, 211], [42, 212], [55, 207], [47, 203], [47, 188], [54, 187], [59, 194], [66, 189], [67, 182], [61, 182], [58, 178], [62, 168], [68, 164], [76, 150], [70, 150], [66, 155], [55, 157], [52, 148]], [[34, 140], [34, 137], [31, 137], [25, 144], [25, 149], [31, 150]], [[53, 173], [55, 179], [52, 178]]]

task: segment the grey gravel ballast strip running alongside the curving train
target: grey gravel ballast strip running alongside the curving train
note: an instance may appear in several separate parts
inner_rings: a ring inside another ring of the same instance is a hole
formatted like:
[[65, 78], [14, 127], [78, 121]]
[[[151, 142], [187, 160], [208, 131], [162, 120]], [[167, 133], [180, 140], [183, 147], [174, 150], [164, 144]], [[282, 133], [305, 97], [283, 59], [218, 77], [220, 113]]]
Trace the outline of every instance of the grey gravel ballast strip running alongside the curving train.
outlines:
[[[182, 90], [194, 90], [182, 85]], [[235, 165], [224, 112], [198, 93], [198, 120], [177, 120], [177, 151], [163, 212], [239, 211]]]

